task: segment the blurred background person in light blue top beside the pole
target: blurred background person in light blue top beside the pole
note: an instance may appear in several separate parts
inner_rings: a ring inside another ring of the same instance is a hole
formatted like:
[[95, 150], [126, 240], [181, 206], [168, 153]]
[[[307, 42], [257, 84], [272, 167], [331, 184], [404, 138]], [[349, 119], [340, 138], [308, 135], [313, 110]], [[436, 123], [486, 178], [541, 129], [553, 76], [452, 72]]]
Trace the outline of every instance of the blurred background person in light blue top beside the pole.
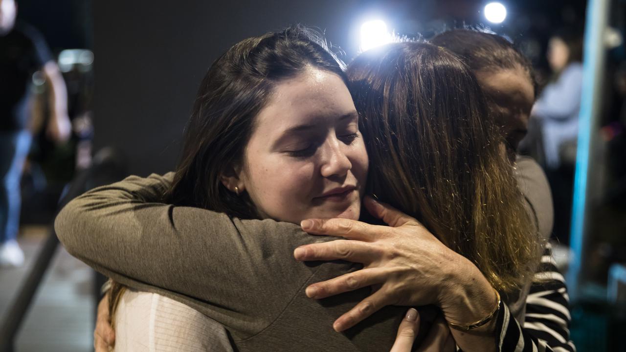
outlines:
[[583, 85], [582, 35], [573, 29], [558, 31], [550, 38], [547, 58], [553, 77], [533, 106], [531, 118], [541, 126], [544, 168], [554, 196], [554, 235], [567, 245]]

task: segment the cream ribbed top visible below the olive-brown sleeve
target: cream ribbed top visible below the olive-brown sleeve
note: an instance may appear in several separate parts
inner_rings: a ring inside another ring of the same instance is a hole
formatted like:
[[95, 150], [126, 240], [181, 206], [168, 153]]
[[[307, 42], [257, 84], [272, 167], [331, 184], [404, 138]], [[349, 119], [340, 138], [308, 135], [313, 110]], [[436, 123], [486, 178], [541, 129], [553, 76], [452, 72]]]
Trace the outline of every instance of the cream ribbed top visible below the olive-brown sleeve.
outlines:
[[233, 352], [226, 329], [159, 294], [127, 289], [115, 313], [116, 352]]

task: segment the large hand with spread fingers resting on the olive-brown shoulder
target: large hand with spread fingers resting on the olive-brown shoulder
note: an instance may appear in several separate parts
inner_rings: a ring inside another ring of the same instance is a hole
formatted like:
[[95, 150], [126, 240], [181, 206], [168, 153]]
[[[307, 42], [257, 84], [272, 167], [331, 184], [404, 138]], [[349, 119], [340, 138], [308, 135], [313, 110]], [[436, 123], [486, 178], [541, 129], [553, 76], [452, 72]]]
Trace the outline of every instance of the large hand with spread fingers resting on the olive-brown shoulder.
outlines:
[[294, 251], [299, 261], [342, 259], [363, 264], [359, 271], [306, 289], [309, 298], [321, 299], [375, 287], [371, 296], [335, 321], [336, 331], [351, 328], [387, 305], [434, 304], [445, 319], [455, 323], [476, 321], [490, 313], [495, 291], [473, 263], [446, 247], [413, 217], [369, 197], [364, 205], [389, 226], [349, 219], [304, 220], [300, 225], [309, 234], [344, 239], [308, 244]]

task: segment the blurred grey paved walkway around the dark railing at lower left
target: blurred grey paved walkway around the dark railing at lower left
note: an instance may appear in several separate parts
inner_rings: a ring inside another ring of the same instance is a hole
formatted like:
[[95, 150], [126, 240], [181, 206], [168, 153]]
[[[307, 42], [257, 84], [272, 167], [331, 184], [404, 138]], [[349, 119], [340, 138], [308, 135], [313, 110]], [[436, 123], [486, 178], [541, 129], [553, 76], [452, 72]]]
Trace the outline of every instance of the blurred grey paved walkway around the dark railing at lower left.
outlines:
[[[43, 226], [21, 229], [18, 242], [26, 264], [0, 268], [0, 317], [4, 317], [16, 291], [47, 236]], [[59, 246], [39, 286], [15, 344], [16, 352], [93, 351], [93, 271]]]

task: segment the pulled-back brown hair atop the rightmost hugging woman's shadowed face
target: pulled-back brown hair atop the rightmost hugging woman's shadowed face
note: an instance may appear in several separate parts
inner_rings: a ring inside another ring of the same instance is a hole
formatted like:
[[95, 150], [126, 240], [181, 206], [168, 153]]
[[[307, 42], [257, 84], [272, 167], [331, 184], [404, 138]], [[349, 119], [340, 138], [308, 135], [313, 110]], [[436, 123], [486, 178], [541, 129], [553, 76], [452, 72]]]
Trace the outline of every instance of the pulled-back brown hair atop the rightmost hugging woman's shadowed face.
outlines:
[[440, 33], [430, 43], [458, 55], [475, 73], [523, 68], [533, 78], [530, 61], [505, 38], [475, 29], [453, 29]]

